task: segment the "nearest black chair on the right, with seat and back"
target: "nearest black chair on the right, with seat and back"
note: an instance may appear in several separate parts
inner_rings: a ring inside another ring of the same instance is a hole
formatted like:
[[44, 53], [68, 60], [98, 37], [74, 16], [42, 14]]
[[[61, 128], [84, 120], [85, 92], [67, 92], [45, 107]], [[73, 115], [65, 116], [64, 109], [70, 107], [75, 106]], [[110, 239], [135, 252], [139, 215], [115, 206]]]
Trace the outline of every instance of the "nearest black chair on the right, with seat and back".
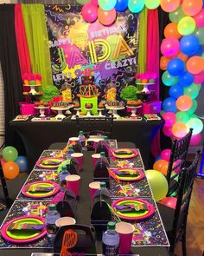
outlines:
[[179, 187], [175, 209], [157, 204], [161, 214], [163, 225], [167, 232], [170, 253], [174, 253], [175, 245], [182, 241], [182, 254], [186, 252], [186, 226], [188, 219], [188, 207], [194, 185], [194, 177], [198, 166], [200, 151], [195, 154], [194, 161], [189, 167], [182, 168], [179, 174]]

